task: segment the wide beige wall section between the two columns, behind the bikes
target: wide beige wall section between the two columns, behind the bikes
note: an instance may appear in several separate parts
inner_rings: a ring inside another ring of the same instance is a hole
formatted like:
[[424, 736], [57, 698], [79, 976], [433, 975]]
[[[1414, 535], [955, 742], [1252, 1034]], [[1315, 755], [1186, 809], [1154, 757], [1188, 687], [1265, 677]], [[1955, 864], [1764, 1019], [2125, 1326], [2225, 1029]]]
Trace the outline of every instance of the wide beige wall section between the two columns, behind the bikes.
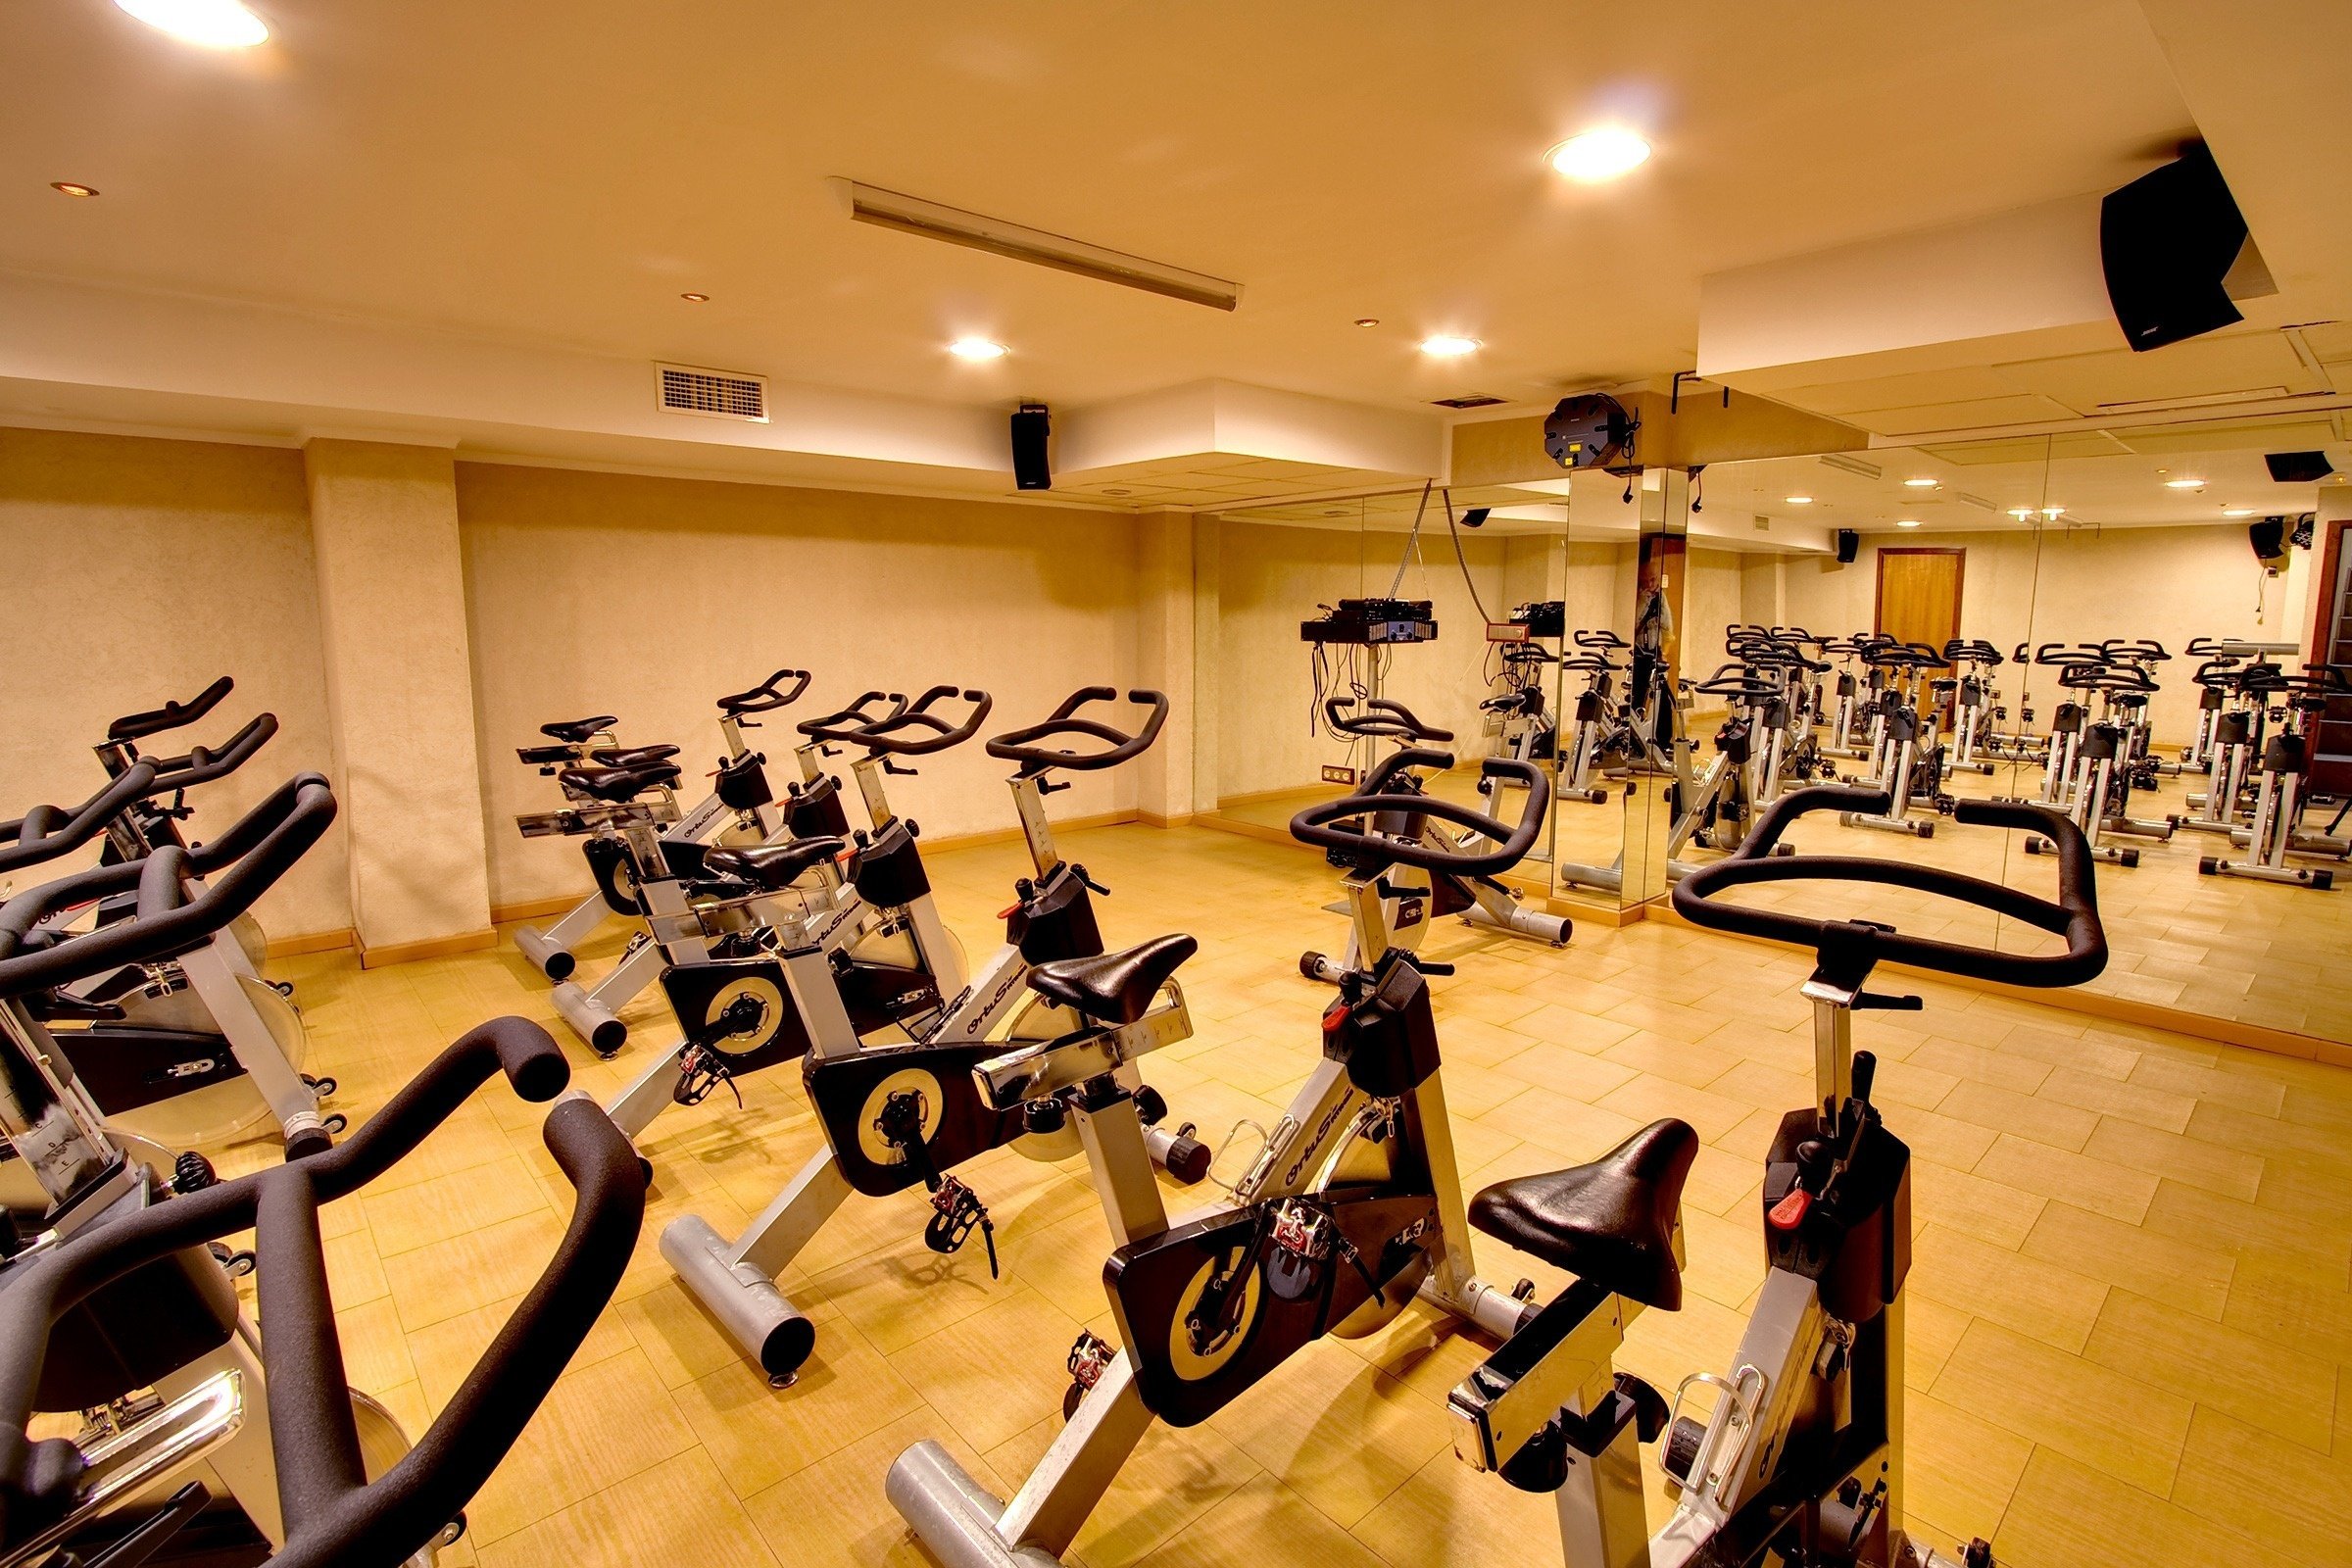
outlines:
[[[699, 797], [720, 752], [715, 698], [779, 665], [816, 672], [783, 722], [750, 733], [779, 790], [790, 722], [868, 686], [981, 686], [1000, 731], [1075, 686], [1136, 679], [1127, 517], [459, 463], [459, 520], [501, 905], [586, 884], [576, 844], [515, 832], [517, 811], [553, 804], [548, 780], [515, 762], [541, 722], [616, 712], [628, 741], [684, 745]], [[920, 769], [889, 788], [924, 832], [1016, 825], [1009, 769], [978, 743]], [[1054, 797], [1056, 816], [1134, 806], [1131, 769]]]

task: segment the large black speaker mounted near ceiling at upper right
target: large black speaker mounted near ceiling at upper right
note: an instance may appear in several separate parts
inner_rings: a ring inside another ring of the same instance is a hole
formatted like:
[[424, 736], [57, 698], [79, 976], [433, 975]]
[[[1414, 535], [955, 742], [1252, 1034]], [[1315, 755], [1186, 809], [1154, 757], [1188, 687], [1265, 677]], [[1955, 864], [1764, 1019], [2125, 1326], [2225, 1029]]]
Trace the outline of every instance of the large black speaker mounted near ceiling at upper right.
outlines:
[[2098, 205], [2107, 303], [2133, 350], [2244, 320], [2223, 287], [2241, 249], [2246, 219], [2201, 141]]

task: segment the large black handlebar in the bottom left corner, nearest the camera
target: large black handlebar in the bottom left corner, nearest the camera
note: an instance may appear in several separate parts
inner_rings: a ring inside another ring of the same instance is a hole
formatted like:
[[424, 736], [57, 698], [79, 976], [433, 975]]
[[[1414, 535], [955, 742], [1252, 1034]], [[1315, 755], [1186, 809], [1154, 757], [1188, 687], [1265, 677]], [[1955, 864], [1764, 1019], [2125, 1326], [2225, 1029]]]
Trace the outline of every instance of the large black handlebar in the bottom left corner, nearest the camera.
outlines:
[[268, 1420], [287, 1540], [280, 1568], [393, 1568], [482, 1488], [612, 1300], [644, 1220], [644, 1168], [593, 1100], [569, 1095], [541, 1128], [574, 1206], [555, 1255], [440, 1418], [369, 1481], [334, 1335], [318, 1208], [376, 1180], [482, 1084], [503, 1072], [529, 1103], [562, 1095], [569, 1067], [548, 1032], [494, 1018], [440, 1053], [341, 1145], [233, 1182], [92, 1225], [31, 1260], [0, 1295], [0, 1544], [19, 1544], [80, 1502], [87, 1465], [68, 1439], [28, 1443], [52, 1326], [92, 1291], [176, 1251], [256, 1229]]

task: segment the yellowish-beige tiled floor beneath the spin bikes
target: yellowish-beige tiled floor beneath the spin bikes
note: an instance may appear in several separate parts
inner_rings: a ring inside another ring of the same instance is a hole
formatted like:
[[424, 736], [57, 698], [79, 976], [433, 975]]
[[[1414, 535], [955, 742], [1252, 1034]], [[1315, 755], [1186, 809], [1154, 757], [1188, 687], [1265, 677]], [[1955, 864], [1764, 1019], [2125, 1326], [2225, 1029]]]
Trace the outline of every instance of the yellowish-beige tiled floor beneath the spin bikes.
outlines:
[[[1112, 940], [1202, 938], [1183, 973], [1197, 1037], [1150, 1060], [1178, 1114], [1216, 1140], [1242, 1117], [1270, 1121], [1312, 1060], [1327, 997], [1296, 954], [1341, 938], [1319, 910], [1327, 867], [1204, 830], [1070, 832], [1063, 849], [1112, 886]], [[976, 954], [1016, 856], [934, 856]], [[1802, 959], [1661, 924], [1592, 926], [1564, 952], [1446, 929], [1432, 952], [1461, 961], [1439, 983], [1439, 1030], [1465, 1185], [1588, 1159], [1658, 1114], [1705, 1133], [1686, 1192], [1689, 1302], [1644, 1314], [1625, 1366], [1663, 1387], [1722, 1368], [1762, 1274], [1757, 1159], [1806, 1093]], [[353, 1112], [480, 1018], [546, 1016], [510, 950], [287, 969]], [[1860, 1023], [1886, 1063], [1889, 1121], [1917, 1152], [1915, 1519], [1938, 1540], [1990, 1535], [2023, 1568], [2352, 1561], [2352, 1074], [1924, 990], [1924, 1013]], [[642, 1041], [668, 1039], [659, 1004], [633, 1020]], [[607, 1093], [642, 1051], [612, 1065], [579, 1053], [579, 1081]], [[967, 1168], [997, 1218], [997, 1281], [978, 1248], [927, 1253], [920, 1204], [854, 1201], [788, 1281], [818, 1321], [818, 1359], [769, 1392], [654, 1246], [684, 1211], [734, 1232], [816, 1145], [797, 1074], [755, 1079], [746, 1100], [654, 1126], [640, 1260], [452, 1559], [917, 1563], [882, 1497], [901, 1448], [946, 1439], [1011, 1486], [1058, 1429], [1070, 1338], [1108, 1331], [1108, 1239], [1082, 1175], [1014, 1154]], [[494, 1093], [336, 1206], [355, 1380], [423, 1422], [564, 1208], [534, 1114]], [[1494, 1244], [1479, 1258], [1491, 1276], [1543, 1274]], [[1155, 1432], [1080, 1556], [1557, 1561], [1545, 1500], [1449, 1448], [1442, 1399], [1479, 1354], [1421, 1309], [1310, 1347], [1204, 1427]]]

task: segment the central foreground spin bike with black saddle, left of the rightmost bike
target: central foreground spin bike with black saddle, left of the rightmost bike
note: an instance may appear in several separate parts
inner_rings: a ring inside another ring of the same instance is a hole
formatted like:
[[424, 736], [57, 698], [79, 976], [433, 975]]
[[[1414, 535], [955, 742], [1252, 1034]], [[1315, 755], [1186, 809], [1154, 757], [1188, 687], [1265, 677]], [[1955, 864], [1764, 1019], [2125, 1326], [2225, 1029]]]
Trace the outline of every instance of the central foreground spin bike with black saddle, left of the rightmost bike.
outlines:
[[[1421, 795], [1348, 795], [1291, 818], [1294, 837], [1364, 863], [1350, 877], [1350, 900], [1357, 950], [1371, 957], [1341, 980], [1322, 1018], [1315, 1074], [1225, 1208], [1169, 1222], [1143, 1161], [1134, 1100], [1101, 1077], [1122, 1060], [1112, 1034], [1033, 1046], [978, 1067], [997, 1107], [1077, 1126], [1117, 1241], [1103, 1284], [1122, 1349], [1080, 1335], [1070, 1352], [1070, 1425], [1009, 1502], [985, 1493], [936, 1441], [898, 1455], [889, 1497], [941, 1563], [1047, 1568], [1070, 1549], [1155, 1420], [1195, 1427], [1315, 1340], [1374, 1333], [1416, 1295], [1489, 1333], [1519, 1326], [1526, 1305], [1472, 1274], [1423, 978], [1446, 971], [1402, 950], [1374, 952], [1383, 931], [1378, 884], [1390, 867], [1491, 877], [1536, 842], [1548, 804], [1543, 773], [1524, 762], [1491, 766], [1517, 773], [1526, 790], [1517, 827]], [[1416, 813], [1442, 820], [1446, 844], [1376, 827]], [[1454, 846], [1472, 842], [1482, 849]], [[1190, 950], [1190, 938], [1136, 950], [1129, 1001], [1148, 999], [1143, 985], [1164, 980]], [[1068, 966], [1047, 966], [1033, 985], [1070, 978]]]

